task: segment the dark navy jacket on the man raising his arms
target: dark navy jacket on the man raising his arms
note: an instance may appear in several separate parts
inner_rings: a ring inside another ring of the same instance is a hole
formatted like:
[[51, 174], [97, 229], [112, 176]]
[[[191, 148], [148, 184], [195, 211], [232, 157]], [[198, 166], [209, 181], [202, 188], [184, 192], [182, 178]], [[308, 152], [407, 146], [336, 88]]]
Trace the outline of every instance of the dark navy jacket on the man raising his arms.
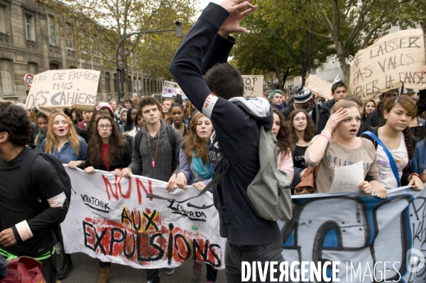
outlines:
[[[225, 170], [224, 158], [241, 179], [250, 184], [258, 173], [259, 125], [271, 130], [272, 111], [256, 118], [240, 101], [212, 96], [202, 75], [213, 65], [227, 62], [234, 38], [218, 34], [229, 13], [210, 3], [182, 41], [170, 65], [170, 72], [192, 104], [212, 120], [214, 134], [207, 150], [214, 176]], [[243, 150], [244, 149], [244, 150]], [[246, 189], [228, 173], [213, 189], [219, 211], [220, 235], [234, 245], [266, 245], [282, 240], [276, 221], [258, 215]]]

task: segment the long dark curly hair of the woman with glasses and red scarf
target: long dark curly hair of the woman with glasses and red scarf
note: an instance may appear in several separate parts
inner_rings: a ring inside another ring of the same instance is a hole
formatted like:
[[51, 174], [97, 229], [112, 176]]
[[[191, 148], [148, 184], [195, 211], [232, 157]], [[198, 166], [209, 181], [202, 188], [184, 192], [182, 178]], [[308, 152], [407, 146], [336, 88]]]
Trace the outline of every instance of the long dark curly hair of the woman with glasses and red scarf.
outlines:
[[99, 166], [99, 163], [102, 162], [102, 140], [97, 132], [97, 125], [99, 120], [107, 119], [112, 126], [111, 137], [109, 138], [109, 150], [108, 150], [108, 162], [111, 163], [114, 160], [114, 156], [119, 157], [119, 160], [124, 155], [124, 141], [121, 138], [121, 133], [119, 127], [114, 121], [114, 118], [111, 118], [109, 115], [102, 114], [99, 118], [96, 119], [94, 125], [90, 128], [90, 140], [89, 140], [89, 150], [87, 150], [87, 160], [93, 167]]

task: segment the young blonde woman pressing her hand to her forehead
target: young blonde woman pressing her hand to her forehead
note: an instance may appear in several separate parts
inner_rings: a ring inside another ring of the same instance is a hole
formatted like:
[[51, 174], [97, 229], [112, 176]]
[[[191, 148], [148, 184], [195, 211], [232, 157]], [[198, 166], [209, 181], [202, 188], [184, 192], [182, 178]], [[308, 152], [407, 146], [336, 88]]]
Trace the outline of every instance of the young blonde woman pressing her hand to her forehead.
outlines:
[[307, 165], [320, 165], [315, 179], [315, 193], [328, 193], [334, 179], [334, 168], [364, 162], [364, 181], [358, 186], [364, 194], [388, 196], [378, 182], [376, 150], [366, 138], [356, 137], [361, 125], [359, 106], [352, 101], [339, 101], [332, 108], [324, 130], [316, 135], [305, 152]]

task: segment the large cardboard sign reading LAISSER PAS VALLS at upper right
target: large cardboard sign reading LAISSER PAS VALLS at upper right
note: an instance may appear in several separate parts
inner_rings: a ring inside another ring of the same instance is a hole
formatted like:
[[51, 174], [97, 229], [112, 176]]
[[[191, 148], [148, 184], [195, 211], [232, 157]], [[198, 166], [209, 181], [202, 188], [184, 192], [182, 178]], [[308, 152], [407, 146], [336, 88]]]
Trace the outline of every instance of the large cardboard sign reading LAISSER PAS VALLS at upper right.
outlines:
[[378, 38], [373, 45], [356, 52], [351, 63], [350, 93], [362, 99], [376, 97], [390, 89], [425, 89], [425, 43], [421, 29], [400, 30]]

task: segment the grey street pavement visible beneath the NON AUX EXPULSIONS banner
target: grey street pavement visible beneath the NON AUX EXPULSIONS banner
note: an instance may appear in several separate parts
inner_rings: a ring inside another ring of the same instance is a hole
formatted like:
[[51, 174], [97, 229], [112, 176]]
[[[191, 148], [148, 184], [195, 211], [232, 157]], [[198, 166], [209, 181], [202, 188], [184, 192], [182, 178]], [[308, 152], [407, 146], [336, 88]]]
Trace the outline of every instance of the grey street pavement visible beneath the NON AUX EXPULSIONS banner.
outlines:
[[[66, 279], [58, 280], [58, 283], [77, 283], [88, 282], [97, 283], [101, 270], [99, 260], [89, 257], [84, 253], [73, 253], [71, 255], [74, 269], [68, 274]], [[202, 276], [200, 279], [194, 279], [192, 275], [192, 265], [194, 260], [187, 260], [180, 267], [175, 268], [173, 275], [167, 276], [160, 270], [160, 281], [162, 283], [205, 283], [206, 265], [202, 267]], [[58, 269], [62, 265], [62, 255], [58, 257]], [[109, 283], [145, 283], [145, 270], [137, 270], [126, 265], [111, 264], [111, 278]], [[219, 270], [217, 273], [218, 283], [226, 283], [225, 271]]]

